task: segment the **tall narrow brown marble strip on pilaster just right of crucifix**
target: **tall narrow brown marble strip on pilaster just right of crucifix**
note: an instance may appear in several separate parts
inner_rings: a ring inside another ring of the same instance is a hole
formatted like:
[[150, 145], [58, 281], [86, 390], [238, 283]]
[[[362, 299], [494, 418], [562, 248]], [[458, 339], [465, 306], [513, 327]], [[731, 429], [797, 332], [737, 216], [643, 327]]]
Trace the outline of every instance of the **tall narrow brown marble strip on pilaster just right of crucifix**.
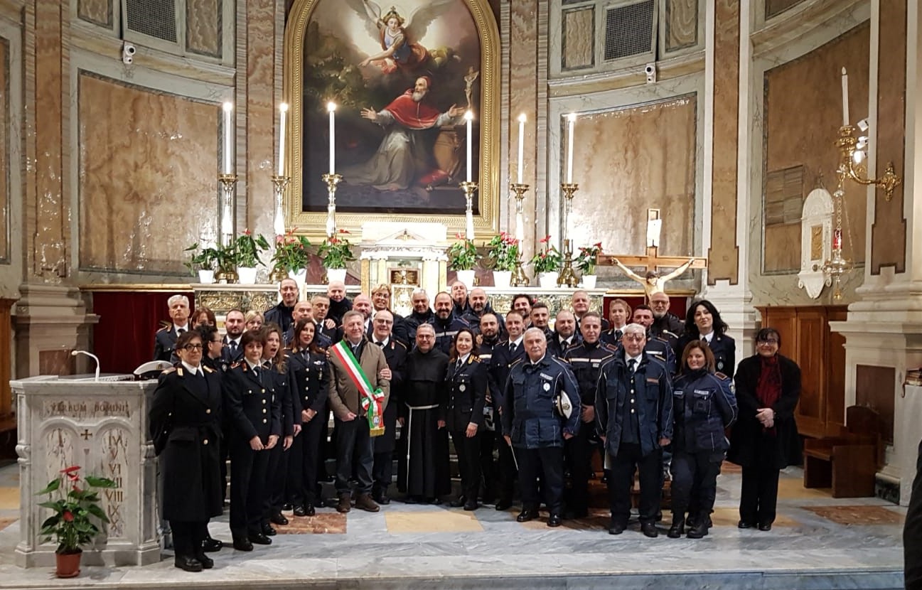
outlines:
[[708, 284], [739, 282], [737, 152], [739, 148], [739, 3], [715, 1], [714, 151]]

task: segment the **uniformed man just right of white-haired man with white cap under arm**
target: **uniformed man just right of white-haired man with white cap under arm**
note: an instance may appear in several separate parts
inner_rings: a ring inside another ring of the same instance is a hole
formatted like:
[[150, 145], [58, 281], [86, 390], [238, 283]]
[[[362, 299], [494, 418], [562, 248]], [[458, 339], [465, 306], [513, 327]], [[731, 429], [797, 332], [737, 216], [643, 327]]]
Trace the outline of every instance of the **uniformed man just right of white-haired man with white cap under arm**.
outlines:
[[[596, 431], [596, 386], [598, 373], [605, 362], [615, 356], [616, 348], [604, 344], [599, 336], [602, 318], [596, 312], [583, 314], [583, 341], [567, 348], [563, 360], [570, 363], [582, 408], [583, 422], [579, 432], [564, 444], [566, 464], [570, 471], [573, 487], [566, 490], [563, 500], [567, 506], [568, 518], [584, 518], [589, 506], [589, 473], [592, 469], [592, 453], [595, 447]], [[569, 493], [567, 493], [569, 492]]]

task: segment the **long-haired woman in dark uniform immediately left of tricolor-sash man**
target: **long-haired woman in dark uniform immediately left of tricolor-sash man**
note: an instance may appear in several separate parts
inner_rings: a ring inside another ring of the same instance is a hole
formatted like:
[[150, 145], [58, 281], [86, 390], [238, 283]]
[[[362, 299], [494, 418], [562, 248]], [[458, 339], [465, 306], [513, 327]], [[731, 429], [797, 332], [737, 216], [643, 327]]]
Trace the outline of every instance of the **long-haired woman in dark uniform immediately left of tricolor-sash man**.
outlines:
[[326, 353], [314, 339], [313, 320], [298, 320], [291, 349], [286, 350], [291, 399], [301, 412], [301, 434], [294, 439], [289, 459], [289, 498], [295, 516], [313, 516], [320, 500], [317, 481], [320, 445], [326, 433], [326, 394], [329, 372]]

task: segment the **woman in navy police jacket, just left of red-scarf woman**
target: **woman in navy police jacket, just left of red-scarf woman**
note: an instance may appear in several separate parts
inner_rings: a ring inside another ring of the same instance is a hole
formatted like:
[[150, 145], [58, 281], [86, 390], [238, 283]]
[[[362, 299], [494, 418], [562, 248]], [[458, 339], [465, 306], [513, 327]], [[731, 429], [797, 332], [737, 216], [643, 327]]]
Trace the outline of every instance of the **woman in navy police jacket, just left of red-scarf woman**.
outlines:
[[714, 372], [714, 354], [701, 340], [682, 351], [682, 373], [672, 384], [672, 526], [668, 537], [707, 535], [717, 474], [730, 448], [724, 431], [737, 419], [737, 398], [727, 375]]

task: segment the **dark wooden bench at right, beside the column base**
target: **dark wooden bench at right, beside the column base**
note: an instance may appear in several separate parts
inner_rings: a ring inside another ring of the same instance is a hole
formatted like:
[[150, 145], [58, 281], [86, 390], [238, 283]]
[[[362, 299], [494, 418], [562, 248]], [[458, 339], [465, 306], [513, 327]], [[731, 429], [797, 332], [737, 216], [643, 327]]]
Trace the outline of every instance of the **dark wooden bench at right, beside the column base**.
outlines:
[[804, 488], [832, 488], [833, 498], [873, 496], [882, 450], [878, 413], [848, 407], [841, 436], [804, 441]]

